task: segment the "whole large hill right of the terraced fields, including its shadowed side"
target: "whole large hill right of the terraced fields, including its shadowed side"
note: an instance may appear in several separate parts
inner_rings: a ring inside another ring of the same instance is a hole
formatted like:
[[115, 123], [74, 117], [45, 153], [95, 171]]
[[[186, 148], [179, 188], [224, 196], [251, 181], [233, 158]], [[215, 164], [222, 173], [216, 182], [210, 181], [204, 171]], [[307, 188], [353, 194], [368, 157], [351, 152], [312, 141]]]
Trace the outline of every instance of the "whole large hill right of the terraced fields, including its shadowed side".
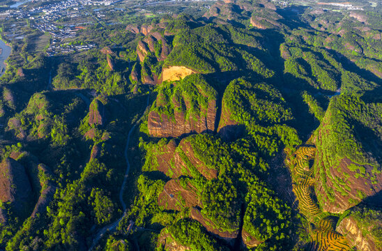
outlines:
[[[378, 147], [381, 146], [381, 138], [376, 137], [381, 124], [376, 122], [376, 126], [366, 128], [361, 122], [356, 122], [360, 119], [358, 115], [344, 117], [341, 111], [349, 108], [342, 105], [350, 102], [349, 98], [338, 96], [330, 100], [321, 126], [314, 133], [317, 147], [315, 190], [323, 211], [330, 213], [343, 213], [367, 197], [376, 197], [374, 201], [381, 206], [382, 172]], [[358, 114], [356, 109], [362, 109], [360, 113], [372, 113], [360, 100], [352, 102], [359, 102], [353, 112]], [[354, 128], [347, 126], [349, 120], [356, 125]]]

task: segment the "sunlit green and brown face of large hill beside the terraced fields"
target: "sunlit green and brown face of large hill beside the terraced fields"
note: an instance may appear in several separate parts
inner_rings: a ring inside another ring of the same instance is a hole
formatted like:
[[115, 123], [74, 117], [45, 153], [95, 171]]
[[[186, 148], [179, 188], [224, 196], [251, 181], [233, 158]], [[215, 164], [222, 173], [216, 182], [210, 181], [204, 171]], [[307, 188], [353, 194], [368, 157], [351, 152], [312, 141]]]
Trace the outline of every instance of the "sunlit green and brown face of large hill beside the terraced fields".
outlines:
[[[376, 167], [371, 165], [360, 165], [346, 155], [333, 156], [335, 153], [330, 142], [333, 142], [332, 135], [336, 132], [331, 126], [332, 119], [333, 116], [326, 112], [319, 130], [315, 133], [314, 143], [317, 146], [314, 160], [315, 190], [323, 211], [343, 213], [356, 206], [362, 199], [379, 194], [382, 190], [382, 172], [375, 172]], [[352, 132], [346, 133], [350, 135]]]

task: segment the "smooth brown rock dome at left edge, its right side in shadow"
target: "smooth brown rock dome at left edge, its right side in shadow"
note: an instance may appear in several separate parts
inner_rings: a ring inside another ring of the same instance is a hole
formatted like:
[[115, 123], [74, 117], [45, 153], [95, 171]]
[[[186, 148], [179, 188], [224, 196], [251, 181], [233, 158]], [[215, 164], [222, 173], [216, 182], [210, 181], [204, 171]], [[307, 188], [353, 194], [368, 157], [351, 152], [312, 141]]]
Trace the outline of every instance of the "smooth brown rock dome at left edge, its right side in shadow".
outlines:
[[25, 169], [19, 162], [6, 158], [0, 163], [0, 201], [13, 204], [20, 212], [31, 199], [32, 188]]

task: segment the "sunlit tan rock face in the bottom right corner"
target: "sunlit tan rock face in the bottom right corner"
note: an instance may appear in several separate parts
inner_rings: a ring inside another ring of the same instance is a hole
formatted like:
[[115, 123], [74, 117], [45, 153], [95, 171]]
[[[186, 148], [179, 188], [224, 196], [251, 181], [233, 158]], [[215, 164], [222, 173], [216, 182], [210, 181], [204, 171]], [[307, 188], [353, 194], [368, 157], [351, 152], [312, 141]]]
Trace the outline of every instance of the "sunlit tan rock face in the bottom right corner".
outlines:
[[[374, 226], [373, 226], [374, 227]], [[367, 234], [369, 229], [362, 229], [358, 222], [352, 216], [348, 216], [339, 223], [337, 231], [344, 235], [351, 246], [362, 251], [378, 251], [374, 239], [370, 234]], [[365, 235], [364, 233], [365, 232]]]

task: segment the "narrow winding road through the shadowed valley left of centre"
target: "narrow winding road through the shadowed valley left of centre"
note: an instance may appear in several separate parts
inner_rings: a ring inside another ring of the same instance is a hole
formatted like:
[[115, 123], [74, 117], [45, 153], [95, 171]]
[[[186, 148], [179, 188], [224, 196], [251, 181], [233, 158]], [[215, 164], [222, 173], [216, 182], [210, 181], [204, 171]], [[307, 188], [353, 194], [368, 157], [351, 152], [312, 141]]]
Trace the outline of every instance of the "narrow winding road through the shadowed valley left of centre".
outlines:
[[147, 101], [146, 101], [146, 108], [144, 109], [142, 116], [137, 120], [137, 122], [135, 122], [134, 126], [132, 126], [132, 128], [130, 129], [130, 131], [128, 133], [128, 139], [126, 140], [126, 146], [125, 146], [125, 151], [124, 151], [124, 157], [125, 157], [125, 162], [126, 162], [126, 171], [125, 171], [125, 176], [123, 177], [121, 190], [119, 191], [119, 201], [121, 202], [122, 207], [123, 207], [123, 215], [118, 220], [110, 223], [109, 225], [107, 225], [105, 227], [102, 227], [102, 229], [100, 229], [100, 231], [98, 231], [98, 233], [93, 238], [93, 243], [91, 244], [89, 251], [93, 250], [93, 248], [95, 247], [95, 245], [97, 245], [100, 238], [102, 238], [102, 236], [107, 231], [114, 231], [116, 229], [116, 227], [119, 225], [119, 222], [121, 222], [123, 217], [125, 217], [125, 215], [126, 215], [126, 204], [125, 204], [125, 201], [123, 201], [123, 192], [125, 191], [126, 181], [128, 179], [129, 172], [130, 172], [130, 162], [129, 162], [129, 158], [128, 158], [128, 148], [129, 148], [129, 144], [130, 144], [130, 137], [131, 137], [132, 131], [134, 131], [134, 129], [137, 126], [137, 124], [139, 123], [139, 121], [141, 121], [142, 118], [144, 117], [144, 114], [145, 114], [146, 109], [148, 107], [149, 101], [150, 101], [150, 93], [148, 93], [148, 97], [147, 97]]

